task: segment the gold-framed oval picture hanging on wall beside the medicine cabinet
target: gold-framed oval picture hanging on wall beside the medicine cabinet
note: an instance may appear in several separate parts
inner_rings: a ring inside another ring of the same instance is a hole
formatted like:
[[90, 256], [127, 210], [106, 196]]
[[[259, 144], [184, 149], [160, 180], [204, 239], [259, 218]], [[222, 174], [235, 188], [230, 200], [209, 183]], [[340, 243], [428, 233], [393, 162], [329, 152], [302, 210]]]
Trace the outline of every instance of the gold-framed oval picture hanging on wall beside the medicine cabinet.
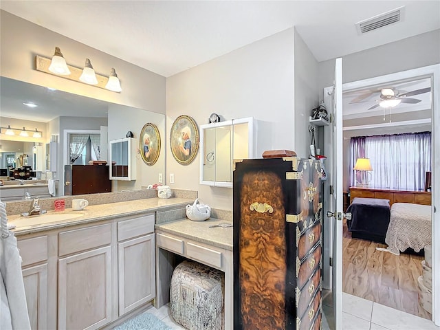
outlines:
[[199, 150], [199, 129], [188, 115], [179, 115], [170, 131], [170, 148], [180, 164], [190, 164]]

